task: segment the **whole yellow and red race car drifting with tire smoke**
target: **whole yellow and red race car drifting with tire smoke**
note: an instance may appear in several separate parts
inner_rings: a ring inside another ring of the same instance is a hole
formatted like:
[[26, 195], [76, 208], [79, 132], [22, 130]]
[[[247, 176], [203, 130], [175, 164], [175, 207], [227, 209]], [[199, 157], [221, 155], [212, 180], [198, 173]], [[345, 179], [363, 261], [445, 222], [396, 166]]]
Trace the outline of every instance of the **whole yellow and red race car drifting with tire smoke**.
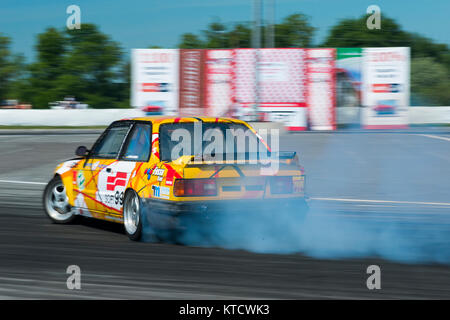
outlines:
[[271, 150], [241, 120], [124, 119], [76, 155], [56, 168], [44, 191], [55, 223], [77, 216], [118, 222], [139, 240], [145, 228], [182, 230], [185, 216], [307, 209], [296, 153]]

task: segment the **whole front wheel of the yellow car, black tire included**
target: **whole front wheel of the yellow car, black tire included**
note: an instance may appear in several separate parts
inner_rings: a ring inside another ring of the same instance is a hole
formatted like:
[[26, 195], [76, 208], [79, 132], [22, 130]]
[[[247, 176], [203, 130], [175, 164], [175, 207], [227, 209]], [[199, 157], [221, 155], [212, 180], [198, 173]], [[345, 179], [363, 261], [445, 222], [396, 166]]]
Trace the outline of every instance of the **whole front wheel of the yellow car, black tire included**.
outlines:
[[67, 194], [60, 176], [55, 176], [44, 189], [42, 196], [47, 217], [56, 224], [75, 222], [78, 216], [68, 203]]

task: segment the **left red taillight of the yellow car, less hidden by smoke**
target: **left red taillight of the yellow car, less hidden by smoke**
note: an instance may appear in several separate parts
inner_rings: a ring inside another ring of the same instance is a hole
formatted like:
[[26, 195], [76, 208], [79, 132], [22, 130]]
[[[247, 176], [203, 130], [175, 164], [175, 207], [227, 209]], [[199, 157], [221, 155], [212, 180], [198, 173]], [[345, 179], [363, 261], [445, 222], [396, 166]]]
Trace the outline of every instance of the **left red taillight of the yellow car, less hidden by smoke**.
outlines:
[[173, 186], [175, 197], [215, 196], [215, 179], [176, 179]]

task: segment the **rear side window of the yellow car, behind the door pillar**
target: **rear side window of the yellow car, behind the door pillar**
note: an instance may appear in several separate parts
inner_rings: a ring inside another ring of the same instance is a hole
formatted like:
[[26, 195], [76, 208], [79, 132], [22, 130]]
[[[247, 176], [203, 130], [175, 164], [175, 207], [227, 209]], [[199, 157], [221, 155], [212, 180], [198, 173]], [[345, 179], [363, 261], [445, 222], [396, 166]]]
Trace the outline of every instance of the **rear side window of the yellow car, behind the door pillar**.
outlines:
[[147, 123], [138, 123], [128, 139], [121, 160], [146, 162], [151, 152], [152, 127]]

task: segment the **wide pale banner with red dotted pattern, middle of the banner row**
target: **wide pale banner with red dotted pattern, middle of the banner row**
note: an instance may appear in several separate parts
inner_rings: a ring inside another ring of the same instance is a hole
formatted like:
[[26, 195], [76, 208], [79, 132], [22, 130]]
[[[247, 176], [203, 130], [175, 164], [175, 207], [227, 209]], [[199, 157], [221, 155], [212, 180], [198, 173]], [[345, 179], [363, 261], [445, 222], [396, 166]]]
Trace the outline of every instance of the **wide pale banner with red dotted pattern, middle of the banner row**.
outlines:
[[[233, 50], [233, 107], [244, 116], [258, 100], [266, 120], [288, 129], [306, 129], [306, 52], [304, 49]], [[256, 79], [258, 61], [258, 79]], [[259, 91], [256, 91], [256, 82]]]

